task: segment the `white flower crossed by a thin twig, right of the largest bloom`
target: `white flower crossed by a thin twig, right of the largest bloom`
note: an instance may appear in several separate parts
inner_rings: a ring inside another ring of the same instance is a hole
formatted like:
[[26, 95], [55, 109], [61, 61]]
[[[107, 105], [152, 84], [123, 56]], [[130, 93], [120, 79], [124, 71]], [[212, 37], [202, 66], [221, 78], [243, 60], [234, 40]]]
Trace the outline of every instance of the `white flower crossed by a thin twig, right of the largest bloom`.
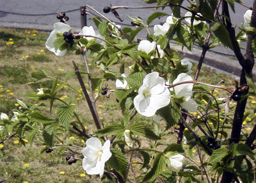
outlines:
[[[173, 84], [177, 84], [182, 81], [193, 81], [193, 79], [186, 73], [180, 73], [173, 81]], [[173, 90], [175, 92], [174, 97], [176, 99], [182, 99], [182, 102], [180, 102], [180, 106], [190, 112], [195, 112], [198, 104], [196, 104], [195, 100], [191, 99], [191, 96], [193, 94], [192, 89], [193, 83], [179, 84], [173, 87]]]

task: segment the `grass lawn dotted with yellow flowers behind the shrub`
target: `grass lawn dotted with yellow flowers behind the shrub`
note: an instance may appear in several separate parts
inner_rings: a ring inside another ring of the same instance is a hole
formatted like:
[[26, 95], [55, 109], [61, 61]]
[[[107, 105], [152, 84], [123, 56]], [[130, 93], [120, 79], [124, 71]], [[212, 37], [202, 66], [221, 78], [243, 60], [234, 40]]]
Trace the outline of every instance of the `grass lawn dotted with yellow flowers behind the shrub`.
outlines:
[[[72, 60], [76, 61], [81, 70], [84, 69], [84, 65], [81, 63], [80, 56], [74, 54], [67, 54], [64, 57], [57, 57], [52, 52], [47, 51], [45, 48], [45, 40], [48, 33], [40, 33], [33, 30], [15, 30], [0, 28], [0, 113], [7, 113], [12, 116], [12, 111], [19, 107], [16, 102], [17, 99], [24, 100], [28, 105], [38, 104], [36, 101], [28, 100], [23, 95], [28, 92], [36, 92], [37, 88], [51, 88], [52, 80], [43, 79], [40, 82], [28, 84], [31, 82], [30, 74], [37, 70], [45, 70], [47, 75], [52, 77], [58, 77], [65, 81], [65, 74], [73, 70]], [[11, 40], [10, 40], [11, 39]], [[13, 44], [6, 44], [12, 42]], [[93, 67], [93, 73], [95, 76], [101, 74], [99, 68]], [[118, 70], [118, 65], [115, 66]], [[217, 74], [210, 68], [202, 68], [200, 73], [200, 81], [217, 84], [225, 79], [225, 86], [235, 87], [234, 79], [226, 74]], [[84, 77], [86, 81], [86, 77]], [[80, 88], [75, 77], [69, 79], [69, 83], [72, 86]], [[114, 86], [114, 81], [109, 81], [108, 86], [111, 88]], [[113, 87], [114, 88], [114, 87]], [[65, 98], [73, 96], [73, 101], [77, 104], [79, 113], [83, 115], [84, 122], [88, 131], [93, 133], [96, 131], [93, 123], [92, 116], [88, 113], [88, 106], [86, 101], [74, 94], [67, 87], [63, 87], [57, 97]], [[97, 92], [97, 91], [95, 91]], [[100, 93], [100, 91], [99, 91]], [[221, 90], [216, 90], [215, 97], [227, 97], [228, 93]], [[254, 99], [248, 100], [248, 106], [250, 107], [250, 118], [255, 119], [252, 113], [256, 104]], [[110, 99], [99, 94], [97, 100], [97, 106], [99, 106], [99, 117], [105, 125], [108, 123], [118, 122], [118, 118], [122, 115], [119, 110], [118, 103], [116, 102], [115, 95], [111, 95]], [[231, 102], [230, 106], [235, 106], [234, 102]], [[49, 113], [49, 108], [44, 108], [44, 113]], [[54, 117], [54, 113], [52, 114]], [[138, 115], [134, 118], [134, 121], [140, 121], [143, 123], [153, 123], [151, 118], [145, 118]], [[248, 125], [244, 126], [244, 131]], [[69, 134], [70, 136], [72, 134]], [[54, 150], [53, 152], [46, 154], [42, 152], [44, 144], [42, 139], [36, 137], [36, 143], [31, 147], [26, 144], [26, 147], [20, 143], [15, 144], [13, 138], [4, 143], [4, 147], [0, 148], [0, 180], [4, 182], [86, 182], [90, 177], [81, 177], [81, 173], [85, 173], [81, 167], [81, 161], [77, 161], [76, 164], [68, 165], [65, 161], [67, 153]], [[84, 146], [83, 143], [80, 144]], [[29, 164], [28, 167], [24, 167], [24, 164]], [[64, 174], [60, 174], [60, 171], [64, 171]], [[93, 180], [99, 182], [99, 179]], [[1, 181], [0, 181], [1, 182]]]

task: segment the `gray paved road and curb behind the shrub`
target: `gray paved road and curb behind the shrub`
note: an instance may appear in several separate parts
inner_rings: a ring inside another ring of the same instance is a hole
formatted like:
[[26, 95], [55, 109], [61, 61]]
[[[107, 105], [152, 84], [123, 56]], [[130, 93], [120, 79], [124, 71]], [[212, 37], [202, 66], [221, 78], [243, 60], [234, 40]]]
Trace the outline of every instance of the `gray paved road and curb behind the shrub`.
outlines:
[[[140, 0], [1, 0], [0, 26], [9, 28], [39, 29], [42, 31], [51, 31], [54, 22], [58, 21], [56, 19], [56, 13], [67, 12], [66, 15], [70, 18], [70, 20], [68, 20], [70, 26], [72, 26], [75, 31], [79, 31], [81, 29], [79, 8], [86, 4], [92, 6], [93, 8], [95, 8], [95, 10], [99, 11], [109, 19], [114, 20], [116, 24], [121, 24], [122, 27], [124, 27], [124, 25], [122, 24], [131, 25], [131, 20], [129, 19], [129, 17], [127, 17], [127, 15], [130, 15], [131, 17], [139, 16], [144, 20], [144, 22], [146, 22], [148, 15], [156, 12], [154, 8], [140, 10], [119, 9], [117, 11], [120, 17], [124, 19], [124, 22], [120, 22], [112, 13], [103, 13], [102, 10], [104, 6], [109, 6], [110, 4], [112, 6], [150, 6], [151, 4], [146, 4]], [[244, 4], [246, 4], [247, 6], [252, 6], [253, 0], [246, 0], [244, 1]], [[246, 10], [246, 7], [236, 3], [236, 13], [231, 13], [234, 24], [240, 25], [243, 22], [243, 14]], [[161, 9], [159, 11], [161, 11]], [[164, 12], [170, 14], [172, 13], [170, 11], [170, 8], [165, 8]], [[87, 16], [87, 25], [94, 26], [93, 21], [90, 20], [90, 18], [90, 16]], [[156, 19], [154, 22], [152, 22], [152, 25], [164, 21], [165, 18]], [[191, 52], [186, 49], [182, 50], [180, 47], [177, 47], [175, 45], [173, 45], [173, 47], [175, 47], [175, 49], [177, 49], [178, 51], [182, 52], [184, 56], [191, 58], [192, 60], [198, 61], [200, 58], [200, 49], [198, 50], [195, 48]], [[207, 52], [205, 57], [205, 64], [219, 68], [220, 70], [225, 70], [230, 74], [235, 74], [239, 76], [241, 67], [236, 60], [232, 59], [232, 56], [234, 56], [234, 53], [229, 49], [225, 49], [223, 47], [213, 49], [211, 52]], [[256, 78], [256, 70], [254, 73]]]

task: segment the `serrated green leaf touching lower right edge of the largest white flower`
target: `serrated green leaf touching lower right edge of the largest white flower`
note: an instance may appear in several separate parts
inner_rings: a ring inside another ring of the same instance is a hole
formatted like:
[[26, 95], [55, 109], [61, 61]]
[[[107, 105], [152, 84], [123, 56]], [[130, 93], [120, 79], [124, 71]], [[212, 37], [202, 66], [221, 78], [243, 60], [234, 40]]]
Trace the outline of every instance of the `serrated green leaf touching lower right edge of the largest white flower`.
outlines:
[[158, 109], [156, 114], [164, 118], [167, 123], [166, 129], [169, 129], [179, 122], [181, 111], [176, 102], [171, 99], [170, 104], [166, 107]]

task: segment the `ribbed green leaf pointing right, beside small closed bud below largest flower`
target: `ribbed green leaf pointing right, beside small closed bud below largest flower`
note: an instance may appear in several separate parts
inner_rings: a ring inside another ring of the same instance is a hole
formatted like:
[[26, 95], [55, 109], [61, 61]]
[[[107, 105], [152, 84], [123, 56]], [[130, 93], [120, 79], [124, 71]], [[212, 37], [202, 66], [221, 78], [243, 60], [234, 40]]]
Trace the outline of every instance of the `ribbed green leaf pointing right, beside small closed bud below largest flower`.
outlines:
[[153, 139], [153, 140], [161, 139], [151, 129], [148, 129], [141, 123], [134, 123], [131, 126], [129, 126], [127, 129], [131, 130], [132, 134], [134, 135], [145, 136], [146, 138]]

